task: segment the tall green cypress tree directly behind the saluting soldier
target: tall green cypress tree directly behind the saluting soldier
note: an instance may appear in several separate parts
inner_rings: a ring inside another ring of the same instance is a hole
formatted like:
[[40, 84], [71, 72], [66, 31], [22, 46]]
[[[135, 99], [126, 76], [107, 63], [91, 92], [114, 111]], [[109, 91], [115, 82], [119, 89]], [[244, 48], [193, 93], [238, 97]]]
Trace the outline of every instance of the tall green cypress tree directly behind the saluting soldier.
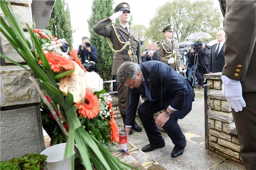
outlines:
[[[91, 35], [91, 43], [98, 49], [98, 68], [100, 77], [103, 81], [112, 80], [113, 75], [112, 63], [113, 56], [106, 37], [100, 36], [93, 31], [93, 26], [97, 24], [101, 19], [110, 17], [113, 14], [113, 0], [93, 0], [92, 3], [92, 15], [87, 20], [89, 25], [89, 32]], [[110, 91], [110, 83], [106, 84], [105, 89]]]

